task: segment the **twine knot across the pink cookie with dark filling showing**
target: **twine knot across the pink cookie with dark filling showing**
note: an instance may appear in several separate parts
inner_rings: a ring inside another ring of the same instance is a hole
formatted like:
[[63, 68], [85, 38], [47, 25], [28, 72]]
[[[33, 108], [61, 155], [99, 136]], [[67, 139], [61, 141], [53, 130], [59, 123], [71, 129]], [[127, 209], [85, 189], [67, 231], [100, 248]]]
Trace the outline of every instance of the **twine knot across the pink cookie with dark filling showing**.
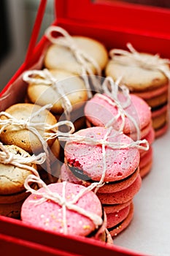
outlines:
[[62, 140], [62, 141], [82, 143], [82, 144], [87, 144], [91, 146], [101, 145], [102, 159], [103, 159], [103, 166], [104, 166], [102, 170], [101, 179], [98, 182], [93, 182], [93, 184], [90, 184], [90, 186], [88, 187], [90, 190], [95, 189], [94, 190], [95, 193], [98, 191], [99, 187], [102, 187], [104, 185], [104, 178], [107, 171], [106, 146], [112, 149], [138, 148], [144, 151], [147, 151], [150, 147], [148, 141], [145, 139], [136, 140], [136, 141], [132, 140], [131, 143], [117, 143], [117, 142], [109, 141], [107, 139], [113, 138], [117, 135], [117, 133], [115, 133], [115, 135], [109, 136], [111, 132], [112, 132], [112, 127], [109, 127], [103, 139], [88, 138], [85, 136], [77, 135], [75, 133], [69, 134], [67, 136], [58, 136], [58, 140]]

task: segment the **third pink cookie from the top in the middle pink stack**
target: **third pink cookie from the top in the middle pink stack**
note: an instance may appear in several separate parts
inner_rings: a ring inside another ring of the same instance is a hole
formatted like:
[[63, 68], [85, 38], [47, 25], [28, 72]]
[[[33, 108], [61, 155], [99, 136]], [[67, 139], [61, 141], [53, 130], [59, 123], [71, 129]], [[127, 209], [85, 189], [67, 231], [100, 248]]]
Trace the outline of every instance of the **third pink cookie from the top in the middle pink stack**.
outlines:
[[133, 184], [131, 184], [130, 187], [123, 189], [119, 192], [114, 193], [98, 193], [98, 198], [101, 200], [102, 204], [109, 204], [114, 205], [117, 203], [126, 203], [129, 200], [132, 200], [133, 197], [136, 195], [137, 192], [139, 192], [139, 189], [142, 184], [142, 179], [140, 175], [136, 178], [136, 181], [134, 181]]

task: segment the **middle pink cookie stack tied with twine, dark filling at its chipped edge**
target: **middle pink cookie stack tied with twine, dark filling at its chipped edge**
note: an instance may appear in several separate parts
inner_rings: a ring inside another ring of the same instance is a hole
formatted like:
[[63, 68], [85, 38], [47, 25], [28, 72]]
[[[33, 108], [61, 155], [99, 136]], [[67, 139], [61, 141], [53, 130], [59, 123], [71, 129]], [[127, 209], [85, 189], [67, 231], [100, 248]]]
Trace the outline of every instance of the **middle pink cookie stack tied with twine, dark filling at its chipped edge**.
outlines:
[[58, 139], [67, 141], [60, 181], [94, 189], [109, 219], [109, 233], [117, 236], [134, 214], [132, 200], [141, 187], [139, 149], [148, 149], [147, 140], [134, 142], [112, 127], [90, 127]]

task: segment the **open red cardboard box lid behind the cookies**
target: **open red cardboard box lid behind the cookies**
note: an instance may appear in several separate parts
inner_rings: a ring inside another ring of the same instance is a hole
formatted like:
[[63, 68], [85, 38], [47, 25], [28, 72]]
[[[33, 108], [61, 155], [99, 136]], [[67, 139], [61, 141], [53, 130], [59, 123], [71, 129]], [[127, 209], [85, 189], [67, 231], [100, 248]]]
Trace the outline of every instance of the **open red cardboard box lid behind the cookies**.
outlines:
[[[140, 2], [140, 1], [136, 1]], [[142, 2], [142, 1], [141, 1]], [[170, 10], [127, 1], [55, 0], [57, 18], [170, 39]]]

